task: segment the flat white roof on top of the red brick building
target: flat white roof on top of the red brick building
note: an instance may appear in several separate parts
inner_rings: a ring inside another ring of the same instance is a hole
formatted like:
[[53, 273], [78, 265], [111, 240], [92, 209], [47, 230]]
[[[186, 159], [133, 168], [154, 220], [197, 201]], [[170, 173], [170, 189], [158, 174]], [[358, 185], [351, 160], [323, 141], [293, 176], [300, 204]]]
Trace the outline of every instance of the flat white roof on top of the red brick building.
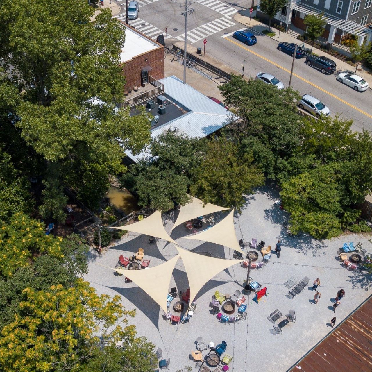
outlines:
[[160, 48], [158, 44], [141, 35], [139, 32], [126, 27], [125, 42], [121, 48], [120, 61], [122, 63], [130, 61], [137, 55], [150, 52], [157, 48]]

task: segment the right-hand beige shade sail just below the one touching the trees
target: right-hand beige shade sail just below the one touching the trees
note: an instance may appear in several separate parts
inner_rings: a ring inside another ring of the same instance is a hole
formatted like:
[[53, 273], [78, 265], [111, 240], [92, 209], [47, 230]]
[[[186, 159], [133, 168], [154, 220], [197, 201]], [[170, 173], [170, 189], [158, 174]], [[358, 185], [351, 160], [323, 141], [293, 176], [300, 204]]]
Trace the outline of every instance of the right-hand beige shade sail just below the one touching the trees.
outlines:
[[244, 253], [235, 235], [234, 229], [234, 209], [222, 221], [215, 224], [206, 231], [199, 232], [196, 235], [183, 237], [185, 239], [204, 240], [210, 243], [221, 244], [221, 246], [229, 247]]

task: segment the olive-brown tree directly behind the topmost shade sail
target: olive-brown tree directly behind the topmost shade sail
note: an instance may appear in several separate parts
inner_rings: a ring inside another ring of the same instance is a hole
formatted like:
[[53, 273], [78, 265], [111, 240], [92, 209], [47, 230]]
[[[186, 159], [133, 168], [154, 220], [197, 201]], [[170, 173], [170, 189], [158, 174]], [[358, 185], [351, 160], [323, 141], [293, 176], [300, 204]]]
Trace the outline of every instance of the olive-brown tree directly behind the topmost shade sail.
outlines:
[[205, 203], [240, 210], [245, 203], [243, 194], [251, 194], [263, 183], [263, 173], [253, 165], [253, 157], [239, 154], [238, 145], [222, 137], [208, 143], [190, 192]]

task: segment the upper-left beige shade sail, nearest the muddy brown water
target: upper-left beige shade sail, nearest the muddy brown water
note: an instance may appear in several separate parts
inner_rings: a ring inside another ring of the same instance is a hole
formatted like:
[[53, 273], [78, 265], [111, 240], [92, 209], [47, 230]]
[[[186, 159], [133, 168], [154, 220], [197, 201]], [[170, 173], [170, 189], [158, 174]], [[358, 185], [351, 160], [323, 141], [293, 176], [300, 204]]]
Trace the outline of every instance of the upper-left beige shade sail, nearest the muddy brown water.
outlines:
[[135, 222], [134, 224], [112, 228], [138, 232], [139, 234], [154, 236], [156, 238], [164, 239], [176, 244], [176, 242], [167, 234], [164, 229], [163, 222], [161, 221], [160, 211], [156, 211], [152, 215], [142, 219], [142, 221]]

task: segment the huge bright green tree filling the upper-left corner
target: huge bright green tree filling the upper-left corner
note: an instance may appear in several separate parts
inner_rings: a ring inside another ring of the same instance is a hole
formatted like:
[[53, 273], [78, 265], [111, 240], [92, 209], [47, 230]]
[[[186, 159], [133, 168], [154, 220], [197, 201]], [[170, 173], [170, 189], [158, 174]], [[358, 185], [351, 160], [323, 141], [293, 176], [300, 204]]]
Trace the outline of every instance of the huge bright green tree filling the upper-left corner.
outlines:
[[19, 130], [23, 147], [41, 157], [44, 185], [50, 188], [44, 214], [58, 215], [54, 211], [62, 201], [50, 198], [61, 194], [48, 180], [51, 173], [71, 182], [96, 206], [108, 184], [100, 180], [91, 198], [84, 194], [86, 185], [125, 171], [120, 165], [124, 150], [136, 153], [149, 140], [145, 112], [130, 117], [128, 109], [116, 109], [113, 103], [124, 97], [120, 52], [125, 30], [109, 9], [92, 21], [93, 13], [84, 0], [74, 6], [46, 0], [0, 4], [0, 58], [3, 71], [10, 71], [0, 74], [0, 94], [11, 94], [4, 110], [12, 109], [13, 121], [7, 125]]

